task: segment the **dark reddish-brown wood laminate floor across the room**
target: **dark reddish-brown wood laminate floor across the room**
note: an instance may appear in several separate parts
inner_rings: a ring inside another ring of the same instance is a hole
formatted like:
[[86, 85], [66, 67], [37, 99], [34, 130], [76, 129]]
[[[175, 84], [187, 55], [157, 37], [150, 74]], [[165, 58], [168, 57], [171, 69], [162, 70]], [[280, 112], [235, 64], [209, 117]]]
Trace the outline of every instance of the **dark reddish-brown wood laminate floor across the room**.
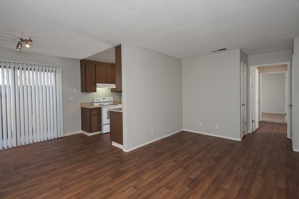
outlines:
[[296, 199], [299, 153], [286, 124], [242, 142], [180, 132], [129, 153], [109, 134], [0, 151], [0, 198]]

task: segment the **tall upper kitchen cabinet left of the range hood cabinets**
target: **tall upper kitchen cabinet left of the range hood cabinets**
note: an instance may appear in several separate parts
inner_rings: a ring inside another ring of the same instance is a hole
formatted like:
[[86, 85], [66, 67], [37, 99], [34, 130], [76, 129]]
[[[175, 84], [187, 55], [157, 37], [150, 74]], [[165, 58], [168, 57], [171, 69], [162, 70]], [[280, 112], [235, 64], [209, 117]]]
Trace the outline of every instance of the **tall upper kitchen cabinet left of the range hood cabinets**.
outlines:
[[80, 60], [81, 92], [97, 92], [95, 64], [88, 60]]

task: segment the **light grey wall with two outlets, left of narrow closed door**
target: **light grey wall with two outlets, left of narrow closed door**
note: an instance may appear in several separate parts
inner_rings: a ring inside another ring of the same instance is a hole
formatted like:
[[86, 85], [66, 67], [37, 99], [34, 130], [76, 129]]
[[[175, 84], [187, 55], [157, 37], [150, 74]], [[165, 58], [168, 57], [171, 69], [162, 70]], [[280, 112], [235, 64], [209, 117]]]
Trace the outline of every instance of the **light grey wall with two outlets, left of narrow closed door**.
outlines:
[[240, 49], [184, 59], [182, 68], [183, 128], [240, 139]]

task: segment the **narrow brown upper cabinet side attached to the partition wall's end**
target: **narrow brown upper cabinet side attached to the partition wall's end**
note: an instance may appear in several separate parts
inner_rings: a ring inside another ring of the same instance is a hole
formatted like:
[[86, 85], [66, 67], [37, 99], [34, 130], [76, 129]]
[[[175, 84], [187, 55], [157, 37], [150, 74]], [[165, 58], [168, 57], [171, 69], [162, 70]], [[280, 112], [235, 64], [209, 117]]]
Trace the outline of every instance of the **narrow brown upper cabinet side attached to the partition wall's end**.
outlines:
[[115, 86], [117, 92], [122, 92], [122, 46], [115, 47]]

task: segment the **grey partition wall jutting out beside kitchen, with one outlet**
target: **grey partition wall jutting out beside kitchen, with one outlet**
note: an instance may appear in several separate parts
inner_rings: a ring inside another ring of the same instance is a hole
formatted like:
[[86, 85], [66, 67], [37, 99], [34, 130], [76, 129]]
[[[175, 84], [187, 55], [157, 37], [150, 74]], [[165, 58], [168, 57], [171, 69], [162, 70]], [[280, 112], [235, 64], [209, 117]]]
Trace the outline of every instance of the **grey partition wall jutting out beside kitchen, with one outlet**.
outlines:
[[124, 149], [181, 130], [181, 60], [124, 43], [122, 67]]

